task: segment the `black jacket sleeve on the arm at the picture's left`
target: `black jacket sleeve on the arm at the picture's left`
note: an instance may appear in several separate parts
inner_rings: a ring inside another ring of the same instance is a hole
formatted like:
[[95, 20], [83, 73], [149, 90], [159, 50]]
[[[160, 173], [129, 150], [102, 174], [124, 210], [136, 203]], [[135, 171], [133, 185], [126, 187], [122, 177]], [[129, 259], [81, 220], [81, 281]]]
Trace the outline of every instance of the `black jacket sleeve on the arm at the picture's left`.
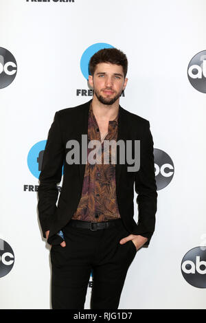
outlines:
[[49, 129], [41, 173], [38, 177], [40, 180], [38, 186], [38, 217], [44, 237], [46, 237], [45, 232], [49, 230], [49, 224], [57, 208], [58, 188], [56, 185], [60, 183], [62, 178], [63, 160], [64, 146], [57, 111], [54, 122]]

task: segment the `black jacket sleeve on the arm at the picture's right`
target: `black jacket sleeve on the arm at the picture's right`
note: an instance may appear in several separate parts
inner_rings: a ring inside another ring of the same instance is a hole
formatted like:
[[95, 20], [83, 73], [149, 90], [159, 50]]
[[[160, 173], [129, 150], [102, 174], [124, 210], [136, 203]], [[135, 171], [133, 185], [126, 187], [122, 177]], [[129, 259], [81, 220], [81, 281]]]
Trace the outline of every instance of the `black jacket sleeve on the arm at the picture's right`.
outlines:
[[135, 174], [135, 192], [139, 212], [138, 230], [133, 234], [140, 234], [148, 238], [145, 245], [149, 245], [150, 238], [155, 231], [155, 214], [157, 212], [157, 185], [155, 181], [155, 164], [153, 154], [153, 140], [150, 132], [150, 122], [147, 121], [145, 133], [140, 141], [140, 167]]

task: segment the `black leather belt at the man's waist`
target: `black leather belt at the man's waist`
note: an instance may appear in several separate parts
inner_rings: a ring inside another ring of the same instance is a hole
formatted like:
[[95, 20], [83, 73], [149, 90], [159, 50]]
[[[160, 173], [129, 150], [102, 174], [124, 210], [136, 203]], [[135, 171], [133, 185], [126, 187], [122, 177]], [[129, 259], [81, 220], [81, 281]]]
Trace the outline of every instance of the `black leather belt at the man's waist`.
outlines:
[[69, 225], [72, 227], [82, 227], [83, 229], [89, 229], [91, 231], [108, 229], [108, 227], [115, 227], [116, 225], [120, 225], [122, 219], [116, 219], [111, 221], [104, 222], [89, 222], [89, 221], [81, 221], [81, 220], [73, 220], [69, 221]]

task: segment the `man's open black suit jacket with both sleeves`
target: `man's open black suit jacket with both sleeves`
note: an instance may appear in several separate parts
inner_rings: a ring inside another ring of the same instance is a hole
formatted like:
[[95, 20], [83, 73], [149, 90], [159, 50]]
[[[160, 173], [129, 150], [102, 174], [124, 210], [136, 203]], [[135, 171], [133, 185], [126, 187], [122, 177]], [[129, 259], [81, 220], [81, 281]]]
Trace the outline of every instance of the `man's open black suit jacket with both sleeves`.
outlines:
[[[78, 140], [81, 151], [82, 134], [87, 135], [90, 102], [91, 100], [78, 107], [57, 111], [49, 129], [38, 186], [38, 216], [44, 237], [45, 231], [49, 230], [48, 243], [51, 243], [49, 241], [52, 241], [52, 236], [67, 225], [78, 208], [85, 164], [67, 164], [65, 157], [69, 148], [66, 148], [66, 144], [68, 140]], [[127, 167], [130, 166], [127, 162], [119, 163], [117, 148], [116, 193], [119, 214], [126, 229], [130, 234], [146, 236], [148, 241], [145, 245], [149, 245], [155, 230], [157, 212], [157, 186], [150, 123], [119, 105], [118, 140], [133, 140], [133, 142], [140, 140], [140, 168], [136, 172], [127, 171]], [[62, 178], [63, 165], [64, 175], [58, 199], [57, 184]], [[137, 223], [133, 219], [134, 186], [139, 214]]]

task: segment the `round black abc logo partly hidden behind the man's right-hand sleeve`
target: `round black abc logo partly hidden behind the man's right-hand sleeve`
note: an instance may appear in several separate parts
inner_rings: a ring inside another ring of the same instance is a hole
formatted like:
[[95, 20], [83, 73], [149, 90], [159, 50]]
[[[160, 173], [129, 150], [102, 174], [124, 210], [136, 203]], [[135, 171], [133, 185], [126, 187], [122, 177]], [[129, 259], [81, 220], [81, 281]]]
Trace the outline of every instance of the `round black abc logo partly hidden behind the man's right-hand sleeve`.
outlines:
[[167, 153], [157, 148], [154, 149], [154, 158], [157, 190], [161, 190], [172, 181], [174, 176], [174, 164]]

